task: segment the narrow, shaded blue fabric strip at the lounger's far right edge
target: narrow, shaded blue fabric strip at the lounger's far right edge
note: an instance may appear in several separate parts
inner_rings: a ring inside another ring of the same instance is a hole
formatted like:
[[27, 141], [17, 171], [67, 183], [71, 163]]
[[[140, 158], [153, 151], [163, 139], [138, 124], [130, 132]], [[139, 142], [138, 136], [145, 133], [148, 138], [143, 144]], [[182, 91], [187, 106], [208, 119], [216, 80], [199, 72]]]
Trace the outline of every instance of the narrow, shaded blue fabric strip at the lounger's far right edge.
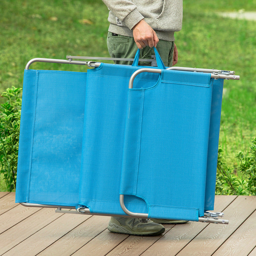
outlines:
[[205, 211], [213, 210], [214, 208], [223, 82], [223, 79], [213, 80], [211, 121], [207, 156]]

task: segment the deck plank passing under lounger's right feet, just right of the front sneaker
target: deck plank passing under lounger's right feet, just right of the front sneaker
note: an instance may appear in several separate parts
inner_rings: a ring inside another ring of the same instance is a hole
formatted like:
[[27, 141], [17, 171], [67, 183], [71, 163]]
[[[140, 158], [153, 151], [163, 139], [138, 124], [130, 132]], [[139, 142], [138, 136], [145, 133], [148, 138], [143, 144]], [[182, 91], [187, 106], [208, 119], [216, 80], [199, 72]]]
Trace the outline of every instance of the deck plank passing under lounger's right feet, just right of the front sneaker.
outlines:
[[[216, 196], [214, 211], [223, 211], [236, 197], [237, 196]], [[161, 237], [161, 239], [149, 247], [142, 256], [176, 255], [208, 225], [216, 224], [190, 221], [187, 224], [175, 225], [163, 237]]]

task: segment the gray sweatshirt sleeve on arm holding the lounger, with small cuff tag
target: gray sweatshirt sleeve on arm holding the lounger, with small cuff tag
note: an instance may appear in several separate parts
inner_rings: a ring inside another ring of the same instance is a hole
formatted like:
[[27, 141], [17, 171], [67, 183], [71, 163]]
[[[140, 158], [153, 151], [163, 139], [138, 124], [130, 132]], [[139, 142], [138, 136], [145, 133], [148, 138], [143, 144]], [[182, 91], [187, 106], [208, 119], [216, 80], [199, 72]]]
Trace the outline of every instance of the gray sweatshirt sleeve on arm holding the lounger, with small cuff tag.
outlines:
[[125, 25], [132, 29], [144, 17], [136, 5], [129, 0], [102, 0], [114, 16], [118, 17]]

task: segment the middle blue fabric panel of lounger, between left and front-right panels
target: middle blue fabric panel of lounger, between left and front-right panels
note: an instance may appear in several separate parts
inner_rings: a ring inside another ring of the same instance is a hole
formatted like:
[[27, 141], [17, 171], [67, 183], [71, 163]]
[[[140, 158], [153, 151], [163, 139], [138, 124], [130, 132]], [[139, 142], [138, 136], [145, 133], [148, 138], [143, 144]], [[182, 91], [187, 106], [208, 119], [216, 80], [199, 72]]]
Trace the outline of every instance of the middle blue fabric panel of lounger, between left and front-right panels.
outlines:
[[[139, 68], [101, 64], [87, 71], [79, 204], [92, 213], [124, 214], [119, 188], [127, 92]], [[135, 87], [153, 86], [159, 74], [140, 74], [135, 80]]]

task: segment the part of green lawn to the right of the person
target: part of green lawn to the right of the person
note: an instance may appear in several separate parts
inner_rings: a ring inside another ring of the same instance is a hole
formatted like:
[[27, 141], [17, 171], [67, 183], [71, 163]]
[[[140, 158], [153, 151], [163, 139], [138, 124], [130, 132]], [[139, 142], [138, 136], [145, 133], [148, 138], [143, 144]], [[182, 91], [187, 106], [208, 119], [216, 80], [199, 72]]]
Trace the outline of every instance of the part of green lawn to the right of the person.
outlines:
[[227, 164], [247, 152], [256, 136], [256, 22], [222, 18], [221, 11], [256, 11], [256, 1], [183, 1], [183, 29], [176, 35], [181, 66], [235, 70], [240, 81], [225, 81], [220, 146]]

